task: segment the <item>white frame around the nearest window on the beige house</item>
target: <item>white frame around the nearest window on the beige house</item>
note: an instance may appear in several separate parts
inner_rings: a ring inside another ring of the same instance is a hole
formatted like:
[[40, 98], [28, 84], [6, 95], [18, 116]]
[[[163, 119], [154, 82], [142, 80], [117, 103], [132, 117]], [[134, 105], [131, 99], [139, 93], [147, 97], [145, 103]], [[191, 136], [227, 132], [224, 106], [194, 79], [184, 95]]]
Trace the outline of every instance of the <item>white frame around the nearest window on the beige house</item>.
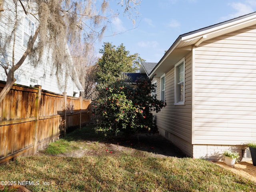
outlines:
[[[183, 101], [178, 101], [178, 67], [183, 64]], [[185, 105], [185, 58], [182, 58], [174, 67], [174, 105]]]

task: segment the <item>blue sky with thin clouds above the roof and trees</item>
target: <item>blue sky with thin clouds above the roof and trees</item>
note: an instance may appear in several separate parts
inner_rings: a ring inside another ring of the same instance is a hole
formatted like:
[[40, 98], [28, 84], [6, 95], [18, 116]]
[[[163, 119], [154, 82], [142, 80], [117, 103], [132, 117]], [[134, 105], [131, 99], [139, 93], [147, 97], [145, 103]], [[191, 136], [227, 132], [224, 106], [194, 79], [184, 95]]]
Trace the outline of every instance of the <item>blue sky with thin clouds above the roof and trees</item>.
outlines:
[[118, 1], [110, 0], [110, 8], [120, 14], [111, 19], [99, 49], [103, 42], [123, 43], [146, 62], [158, 62], [181, 34], [256, 10], [256, 0], [142, 0], [134, 26]]

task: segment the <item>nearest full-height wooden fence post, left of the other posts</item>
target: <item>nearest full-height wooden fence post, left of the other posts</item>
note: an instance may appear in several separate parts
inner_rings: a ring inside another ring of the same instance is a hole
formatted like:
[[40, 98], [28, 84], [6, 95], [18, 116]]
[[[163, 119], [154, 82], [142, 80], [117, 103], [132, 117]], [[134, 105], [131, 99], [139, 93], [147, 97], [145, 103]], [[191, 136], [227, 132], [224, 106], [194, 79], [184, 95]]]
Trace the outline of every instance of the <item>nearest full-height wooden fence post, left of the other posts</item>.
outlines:
[[36, 94], [36, 104], [35, 104], [35, 114], [36, 122], [34, 123], [34, 146], [33, 146], [33, 154], [36, 154], [37, 151], [37, 132], [39, 127], [39, 112], [40, 112], [40, 104], [41, 104], [41, 94], [42, 94], [42, 86], [35, 85], [38, 88], [38, 92]]

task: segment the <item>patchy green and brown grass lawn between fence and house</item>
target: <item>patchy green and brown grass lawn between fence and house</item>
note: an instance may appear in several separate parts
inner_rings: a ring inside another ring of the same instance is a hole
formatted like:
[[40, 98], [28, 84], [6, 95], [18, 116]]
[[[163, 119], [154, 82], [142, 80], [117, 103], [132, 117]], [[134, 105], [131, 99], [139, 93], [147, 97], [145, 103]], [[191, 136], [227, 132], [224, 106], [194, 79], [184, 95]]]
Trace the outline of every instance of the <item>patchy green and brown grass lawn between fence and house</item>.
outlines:
[[160, 157], [128, 143], [85, 127], [37, 155], [0, 166], [0, 180], [34, 182], [26, 185], [33, 192], [256, 191], [255, 183], [206, 160]]

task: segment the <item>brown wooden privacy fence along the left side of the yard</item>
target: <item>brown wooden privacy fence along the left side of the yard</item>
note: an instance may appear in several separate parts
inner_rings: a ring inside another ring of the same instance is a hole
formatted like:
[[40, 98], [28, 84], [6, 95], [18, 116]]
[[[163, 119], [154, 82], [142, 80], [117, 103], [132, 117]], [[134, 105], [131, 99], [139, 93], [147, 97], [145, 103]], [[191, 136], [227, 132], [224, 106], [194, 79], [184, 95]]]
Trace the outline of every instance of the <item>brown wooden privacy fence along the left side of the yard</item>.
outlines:
[[[0, 92], [5, 86], [0, 82]], [[0, 164], [36, 153], [60, 135], [90, 123], [90, 100], [12, 86], [0, 103]]]

